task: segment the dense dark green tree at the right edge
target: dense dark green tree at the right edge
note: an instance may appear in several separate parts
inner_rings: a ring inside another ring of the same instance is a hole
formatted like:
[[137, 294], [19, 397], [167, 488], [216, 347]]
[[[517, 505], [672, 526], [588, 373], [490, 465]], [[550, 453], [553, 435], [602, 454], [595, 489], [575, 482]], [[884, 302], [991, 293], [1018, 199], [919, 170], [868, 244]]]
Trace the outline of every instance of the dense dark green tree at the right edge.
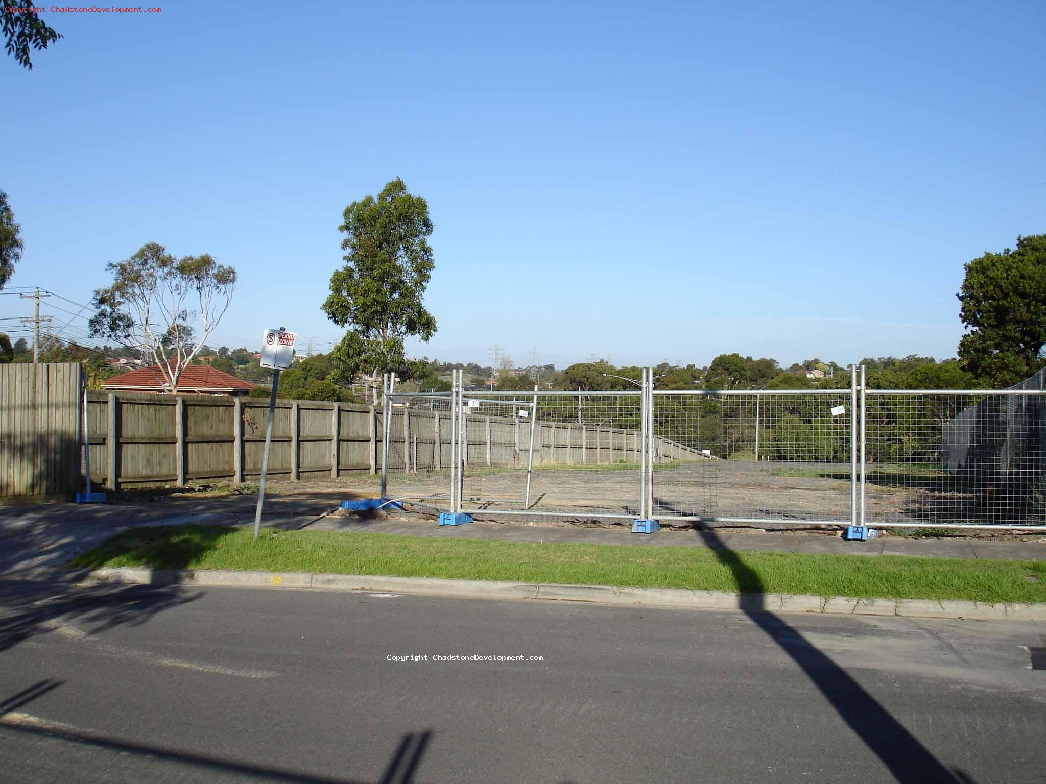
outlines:
[[1017, 249], [965, 264], [956, 295], [967, 333], [959, 361], [982, 384], [1008, 387], [1044, 365], [1046, 234], [1017, 238]]

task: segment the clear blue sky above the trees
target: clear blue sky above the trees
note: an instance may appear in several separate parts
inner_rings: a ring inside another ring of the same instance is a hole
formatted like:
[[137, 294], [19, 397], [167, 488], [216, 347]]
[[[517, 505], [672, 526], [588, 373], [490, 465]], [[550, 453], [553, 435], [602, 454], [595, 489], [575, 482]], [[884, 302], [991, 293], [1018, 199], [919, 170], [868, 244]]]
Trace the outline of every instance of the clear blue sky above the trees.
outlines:
[[211, 253], [214, 345], [338, 340], [341, 213], [396, 176], [436, 227], [412, 352], [481, 364], [943, 359], [962, 264], [1046, 231], [1041, 2], [43, 16], [65, 38], [0, 61], [8, 285], [86, 302], [146, 241]]

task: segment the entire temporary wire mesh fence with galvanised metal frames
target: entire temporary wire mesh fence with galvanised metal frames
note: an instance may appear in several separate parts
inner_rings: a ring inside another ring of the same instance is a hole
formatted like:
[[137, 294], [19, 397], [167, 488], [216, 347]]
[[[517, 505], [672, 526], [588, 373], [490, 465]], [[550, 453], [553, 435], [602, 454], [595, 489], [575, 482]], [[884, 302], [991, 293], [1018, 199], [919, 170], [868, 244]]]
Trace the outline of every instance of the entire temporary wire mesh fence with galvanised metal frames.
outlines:
[[530, 516], [1046, 525], [1041, 381], [652, 392], [644, 374], [635, 392], [464, 392], [455, 377], [451, 393], [386, 394], [386, 498]]

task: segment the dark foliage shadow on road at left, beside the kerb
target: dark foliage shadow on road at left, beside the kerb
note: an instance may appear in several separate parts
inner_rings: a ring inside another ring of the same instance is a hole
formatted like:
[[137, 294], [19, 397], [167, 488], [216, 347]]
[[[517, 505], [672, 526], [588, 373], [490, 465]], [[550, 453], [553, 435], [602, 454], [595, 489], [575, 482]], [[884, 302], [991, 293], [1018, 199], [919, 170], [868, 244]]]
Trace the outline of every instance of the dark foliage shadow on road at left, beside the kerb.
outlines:
[[202, 592], [153, 585], [71, 587], [52, 583], [0, 581], [0, 651], [38, 635], [56, 622], [75, 621], [88, 633], [114, 626], [139, 626], [165, 609], [196, 601]]

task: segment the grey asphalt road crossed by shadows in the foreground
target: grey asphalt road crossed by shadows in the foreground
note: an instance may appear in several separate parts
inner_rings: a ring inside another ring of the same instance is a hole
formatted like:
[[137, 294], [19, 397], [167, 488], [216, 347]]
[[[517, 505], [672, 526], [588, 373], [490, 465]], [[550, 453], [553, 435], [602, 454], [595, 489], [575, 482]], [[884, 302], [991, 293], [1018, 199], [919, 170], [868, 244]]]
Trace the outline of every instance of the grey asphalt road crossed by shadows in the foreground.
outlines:
[[0, 583], [0, 779], [1040, 784], [1046, 672], [1022, 646], [1044, 635]]

